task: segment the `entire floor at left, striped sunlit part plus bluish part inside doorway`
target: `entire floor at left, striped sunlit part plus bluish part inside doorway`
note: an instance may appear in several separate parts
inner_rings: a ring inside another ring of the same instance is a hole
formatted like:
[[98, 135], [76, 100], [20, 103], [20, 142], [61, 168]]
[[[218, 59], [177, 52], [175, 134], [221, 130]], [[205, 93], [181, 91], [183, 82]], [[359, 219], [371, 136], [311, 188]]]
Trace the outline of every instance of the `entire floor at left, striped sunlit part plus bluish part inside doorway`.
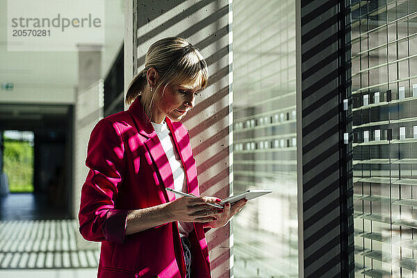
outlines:
[[42, 197], [1, 198], [0, 277], [96, 277], [99, 244]]

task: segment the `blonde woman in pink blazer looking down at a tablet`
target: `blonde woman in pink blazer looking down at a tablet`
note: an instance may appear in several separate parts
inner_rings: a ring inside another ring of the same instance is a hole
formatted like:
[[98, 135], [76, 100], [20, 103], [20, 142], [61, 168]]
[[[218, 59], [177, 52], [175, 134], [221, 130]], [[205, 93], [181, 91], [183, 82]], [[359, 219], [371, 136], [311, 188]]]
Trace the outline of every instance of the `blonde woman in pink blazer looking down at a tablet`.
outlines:
[[245, 200], [213, 208], [199, 196], [187, 129], [179, 122], [206, 87], [207, 65], [183, 38], [158, 40], [126, 93], [131, 104], [99, 121], [88, 144], [80, 232], [101, 241], [98, 277], [211, 277], [204, 236]]

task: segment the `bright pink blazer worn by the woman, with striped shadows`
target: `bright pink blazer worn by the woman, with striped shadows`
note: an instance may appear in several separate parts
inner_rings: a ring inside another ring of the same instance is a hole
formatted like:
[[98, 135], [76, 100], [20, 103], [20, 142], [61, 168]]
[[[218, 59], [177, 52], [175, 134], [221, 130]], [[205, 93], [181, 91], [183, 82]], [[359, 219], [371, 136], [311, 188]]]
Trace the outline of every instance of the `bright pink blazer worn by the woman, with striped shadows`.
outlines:
[[[188, 192], [199, 195], [197, 168], [188, 131], [165, 119], [186, 172]], [[90, 168], [81, 190], [80, 233], [101, 241], [98, 277], [185, 277], [177, 222], [125, 236], [129, 210], [175, 199], [166, 187], [174, 179], [161, 142], [138, 97], [128, 111], [100, 120], [92, 130], [85, 164]], [[202, 224], [189, 239], [192, 275], [209, 278], [210, 263]]]

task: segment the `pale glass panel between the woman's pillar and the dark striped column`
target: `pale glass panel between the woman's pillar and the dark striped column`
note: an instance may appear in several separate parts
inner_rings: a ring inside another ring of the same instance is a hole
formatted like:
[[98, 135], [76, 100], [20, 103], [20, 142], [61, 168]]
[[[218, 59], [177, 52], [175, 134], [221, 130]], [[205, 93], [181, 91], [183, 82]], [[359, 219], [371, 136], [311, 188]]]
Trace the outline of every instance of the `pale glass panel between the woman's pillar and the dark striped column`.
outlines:
[[297, 277], [295, 1], [234, 0], [235, 277]]

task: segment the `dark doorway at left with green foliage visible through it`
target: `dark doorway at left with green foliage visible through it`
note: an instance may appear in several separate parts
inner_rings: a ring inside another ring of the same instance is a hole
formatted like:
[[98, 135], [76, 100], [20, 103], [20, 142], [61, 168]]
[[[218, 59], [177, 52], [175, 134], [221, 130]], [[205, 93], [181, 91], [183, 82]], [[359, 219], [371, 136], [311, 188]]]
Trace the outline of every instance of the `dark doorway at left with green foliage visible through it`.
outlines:
[[0, 220], [70, 219], [72, 106], [0, 104]]

